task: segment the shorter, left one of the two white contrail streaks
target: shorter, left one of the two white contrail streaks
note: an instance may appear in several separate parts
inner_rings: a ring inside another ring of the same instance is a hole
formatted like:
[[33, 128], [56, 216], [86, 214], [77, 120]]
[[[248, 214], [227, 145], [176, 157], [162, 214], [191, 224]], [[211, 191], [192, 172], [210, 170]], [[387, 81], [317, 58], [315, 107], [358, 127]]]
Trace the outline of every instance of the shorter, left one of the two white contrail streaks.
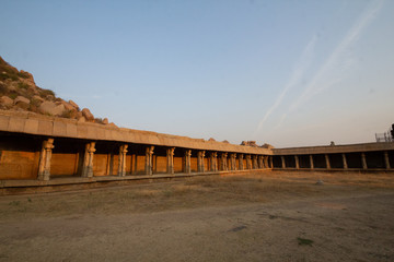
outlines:
[[313, 50], [316, 44], [317, 37], [313, 36], [312, 39], [306, 45], [305, 49], [303, 50], [300, 60], [296, 64], [291, 78], [285, 85], [285, 88], [279, 94], [278, 98], [275, 100], [274, 105], [268, 109], [268, 111], [264, 115], [263, 119], [259, 121], [256, 132], [259, 132], [264, 126], [264, 122], [268, 119], [268, 117], [273, 114], [273, 111], [280, 105], [285, 95], [288, 91], [298, 85], [302, 80], [306, 68], [310, 66], [311, 61], [313, 60]]

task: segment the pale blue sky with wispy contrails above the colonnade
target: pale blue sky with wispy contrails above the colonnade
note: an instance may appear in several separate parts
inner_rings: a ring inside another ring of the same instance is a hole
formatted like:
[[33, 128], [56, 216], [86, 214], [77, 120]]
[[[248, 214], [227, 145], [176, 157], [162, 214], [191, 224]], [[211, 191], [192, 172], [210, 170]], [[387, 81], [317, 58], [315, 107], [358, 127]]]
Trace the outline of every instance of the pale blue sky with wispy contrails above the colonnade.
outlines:
[[119, 127], [276, 147], [394, 122], [394, 1], [2, 0], [0, 56]]

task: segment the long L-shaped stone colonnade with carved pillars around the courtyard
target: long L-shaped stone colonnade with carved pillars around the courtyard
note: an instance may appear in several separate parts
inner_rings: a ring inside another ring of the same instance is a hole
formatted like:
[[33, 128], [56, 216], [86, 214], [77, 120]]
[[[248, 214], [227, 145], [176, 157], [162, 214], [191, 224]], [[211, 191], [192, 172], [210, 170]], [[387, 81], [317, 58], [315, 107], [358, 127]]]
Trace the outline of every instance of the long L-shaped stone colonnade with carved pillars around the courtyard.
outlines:
[[0, 110], [0, 190], [251, 170], [393, 172], [394, 142], [271, 148]]

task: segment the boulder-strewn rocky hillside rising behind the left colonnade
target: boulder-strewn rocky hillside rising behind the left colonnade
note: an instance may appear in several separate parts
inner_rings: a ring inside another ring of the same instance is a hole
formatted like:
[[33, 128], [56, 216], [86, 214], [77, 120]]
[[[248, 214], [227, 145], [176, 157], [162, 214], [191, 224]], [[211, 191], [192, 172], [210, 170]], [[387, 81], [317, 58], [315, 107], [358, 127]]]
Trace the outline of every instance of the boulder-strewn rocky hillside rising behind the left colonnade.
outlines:
[[[33, 75], [19, 71], [0, 57], [0, 109], [32, 111], [54, 117], [77, 119], [80, 122], [108, 124], [108, 119], [94, 118], [88, 109], [72, 100], [56, 97], [50, 90], [38, 87]], [[109, 123], [115, 126], [114, 123]]]

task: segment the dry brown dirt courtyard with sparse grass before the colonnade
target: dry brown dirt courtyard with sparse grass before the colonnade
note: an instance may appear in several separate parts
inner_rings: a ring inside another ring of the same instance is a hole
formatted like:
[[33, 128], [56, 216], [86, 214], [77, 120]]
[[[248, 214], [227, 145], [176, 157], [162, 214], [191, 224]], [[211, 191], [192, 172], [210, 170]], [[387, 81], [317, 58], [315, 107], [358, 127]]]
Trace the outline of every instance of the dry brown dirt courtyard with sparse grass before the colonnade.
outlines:
[[251, 172], [7, 195], [0, 261], [394, 261], [393, 217], [393, 174]]

